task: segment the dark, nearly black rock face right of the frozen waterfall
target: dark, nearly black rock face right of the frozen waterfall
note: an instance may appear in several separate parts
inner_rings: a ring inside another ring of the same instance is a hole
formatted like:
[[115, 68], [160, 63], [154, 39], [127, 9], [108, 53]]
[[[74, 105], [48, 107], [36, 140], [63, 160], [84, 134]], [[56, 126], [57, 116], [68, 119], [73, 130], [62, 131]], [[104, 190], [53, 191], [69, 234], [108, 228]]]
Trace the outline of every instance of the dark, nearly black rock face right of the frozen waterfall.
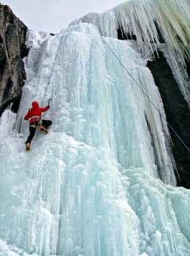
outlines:
[[[172, 69], [167, 64], [163, 54], [159, 52], [159, 58], [155, 53], [155, 60], [148, 61], [148, 68], [151, 70], [156, 86], [159, 88], [161, 99], [167, 121], [175, 129], [180, 138], [190, 148], [190, 110], [186, 100], [183, 98], [178, 83], [172, 75]], [[189, 71], [189, 64], [187, 63]], [[169, 127], [170, 129], [170, 127]], [[177, 165], [176, 175], [178, 186], [190, 189], [190, 154], [183, 143], [180, 142], [175, 133], [170, 129], [172, 138], [172, 154]]]

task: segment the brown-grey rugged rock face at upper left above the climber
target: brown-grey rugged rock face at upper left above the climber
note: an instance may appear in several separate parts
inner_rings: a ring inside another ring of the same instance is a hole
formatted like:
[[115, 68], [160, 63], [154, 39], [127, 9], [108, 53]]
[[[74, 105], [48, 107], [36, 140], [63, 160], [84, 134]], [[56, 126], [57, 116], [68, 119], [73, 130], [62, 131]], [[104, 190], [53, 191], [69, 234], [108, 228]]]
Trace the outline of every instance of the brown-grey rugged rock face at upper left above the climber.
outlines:
[[18, 110], [26, 79], [22, 61], [28, 53], [26, 31], [12, 10], [0, 4], [0, 116], [11, 102], [12, 111]]

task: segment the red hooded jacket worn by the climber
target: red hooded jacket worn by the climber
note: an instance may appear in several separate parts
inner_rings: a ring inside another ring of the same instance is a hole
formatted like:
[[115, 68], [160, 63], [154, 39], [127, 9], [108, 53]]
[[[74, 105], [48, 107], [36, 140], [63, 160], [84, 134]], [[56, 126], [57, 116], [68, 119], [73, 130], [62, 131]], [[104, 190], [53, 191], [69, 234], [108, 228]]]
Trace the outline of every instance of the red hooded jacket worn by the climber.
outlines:
[[24, 117], [25, 120], [30, 119], [30, 124], [34, 121], [39, 121], [41, 118], [42, 112], [47, 111], [50, 108], [50, 106], [47, 106], [45, 108], [39, 108], [38, 102], [32, 102], [32, 108], [28, 111], [27, 115]]

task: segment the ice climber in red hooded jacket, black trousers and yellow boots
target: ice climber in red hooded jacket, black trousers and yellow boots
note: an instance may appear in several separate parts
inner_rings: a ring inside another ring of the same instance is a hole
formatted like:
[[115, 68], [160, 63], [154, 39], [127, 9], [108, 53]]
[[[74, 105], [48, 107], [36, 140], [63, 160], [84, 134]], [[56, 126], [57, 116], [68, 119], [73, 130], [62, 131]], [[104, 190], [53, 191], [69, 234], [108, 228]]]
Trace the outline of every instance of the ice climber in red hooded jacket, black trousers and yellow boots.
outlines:
[[30, 118], [30, 121], [29, 121], [30, 135], [28, 136], [28, 139], [26, 140], [26, 143], [25, 143], [26, 151], [30, 150], [31, 140], [34, 138], [36, 129], [38, 128], [40, 131], [43, 132], [43, 134], [46, 135], [47, 127], [49, 127], [52, 124], [52, 121], [50, 121], [50, 120], [41, 119], [42, 112], [45, 112], [50, 108], [49, 102], [48, 102], [47, 107], [45, 107], [45, 108], [39, 108], [38, 102], [32, 102], [31, 110], [28, 110], [28, 113], [24, 117], [25, 120], [28, 120]]

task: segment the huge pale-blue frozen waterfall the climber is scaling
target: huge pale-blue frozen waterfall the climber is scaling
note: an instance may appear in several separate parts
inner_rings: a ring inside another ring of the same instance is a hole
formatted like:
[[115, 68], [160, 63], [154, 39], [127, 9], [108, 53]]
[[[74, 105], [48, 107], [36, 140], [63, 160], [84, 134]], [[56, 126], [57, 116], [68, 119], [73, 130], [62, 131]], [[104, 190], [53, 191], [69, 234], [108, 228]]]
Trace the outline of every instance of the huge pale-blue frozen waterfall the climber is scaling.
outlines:
[[[20, 108], [0, 119], [0, 255], [189, 255], [190, 192], [171, 186], [166, 124], [91, 24], [66, 31], [47, 88], [63, 32], [28, 31]], [[104, 39], [164, 115], [145, 60]], [[26, 152], [23, 116], [44, 95], [53, 125]]]

